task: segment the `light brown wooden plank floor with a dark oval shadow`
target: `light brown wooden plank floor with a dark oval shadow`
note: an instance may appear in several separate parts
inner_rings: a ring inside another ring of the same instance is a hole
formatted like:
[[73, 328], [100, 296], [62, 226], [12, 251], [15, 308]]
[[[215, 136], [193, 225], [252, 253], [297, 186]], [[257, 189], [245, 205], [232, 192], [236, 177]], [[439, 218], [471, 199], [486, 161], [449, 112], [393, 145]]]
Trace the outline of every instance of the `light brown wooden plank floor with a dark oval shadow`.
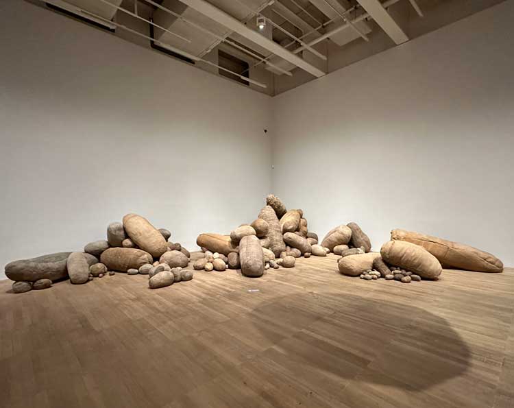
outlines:
[[125, 274], [9, 289], [1, 407], [514, 407], [514, 269], [403, 284], [332, 255], [154, 291]]

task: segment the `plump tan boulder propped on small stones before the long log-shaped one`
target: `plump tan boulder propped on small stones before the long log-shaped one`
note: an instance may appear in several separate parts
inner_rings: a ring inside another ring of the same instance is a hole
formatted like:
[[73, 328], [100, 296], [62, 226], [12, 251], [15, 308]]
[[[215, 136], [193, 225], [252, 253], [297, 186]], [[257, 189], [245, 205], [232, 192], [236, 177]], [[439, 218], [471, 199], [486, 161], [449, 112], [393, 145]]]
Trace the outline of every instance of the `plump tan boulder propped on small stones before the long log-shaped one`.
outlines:
[[[389, 241], [380, 249], [382, 259], [426, 279], [437, 279], [443, 272], [441, 263], [425, 248], [406, 241]], [[362, 255], [357, 255], [362, 256]]]

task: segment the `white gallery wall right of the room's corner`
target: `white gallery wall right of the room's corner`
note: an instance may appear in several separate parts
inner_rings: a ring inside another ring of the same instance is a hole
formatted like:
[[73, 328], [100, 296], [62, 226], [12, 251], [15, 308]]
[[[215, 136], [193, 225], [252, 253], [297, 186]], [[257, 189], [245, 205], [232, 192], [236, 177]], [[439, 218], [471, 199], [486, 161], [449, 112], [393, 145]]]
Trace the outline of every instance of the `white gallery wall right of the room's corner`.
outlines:
[[324, 235], [356, 221], [514, 266], [514, 1], [273, 98], [273, 191]]

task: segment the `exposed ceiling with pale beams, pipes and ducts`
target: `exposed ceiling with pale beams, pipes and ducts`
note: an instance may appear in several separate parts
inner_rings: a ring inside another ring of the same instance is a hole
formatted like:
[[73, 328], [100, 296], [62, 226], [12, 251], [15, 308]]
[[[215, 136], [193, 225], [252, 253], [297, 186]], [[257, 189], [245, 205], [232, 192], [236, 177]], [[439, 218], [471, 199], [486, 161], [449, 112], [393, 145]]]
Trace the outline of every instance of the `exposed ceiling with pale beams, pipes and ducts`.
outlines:
[[[276, 84], [280, 82], [301, 84], [333, 71], [334, 64], [329, 63], [329, 58], [336, 55], [334, 50], [343, 53], [347, 47], [366, 47], [374, 41], [381, 41], [382, 47], [384, 38], [388, 47], [408, 41], [406, 27], [411, 26], [411, 20], [422, 19], [426, 14], [422, 3], [432, 3], [428, 11], [435, 8], [434, 3], [438, 6], [444, 3], [442, 0], [29, 1], [42, 2], [54, 10], [58, 8], [93, 21], [140, 45], [170, 51], [212, 73], [228, 73], [238, 82], [270, 95], [278, 93]], [[458, 0], [447, 2], [451, 1]], [[227, 59], [219, 59], [218, 51], [239, 58], [242, 65], [225, 66]], [[244, 65], [246, 69], [234, 71], [233, 67]]]

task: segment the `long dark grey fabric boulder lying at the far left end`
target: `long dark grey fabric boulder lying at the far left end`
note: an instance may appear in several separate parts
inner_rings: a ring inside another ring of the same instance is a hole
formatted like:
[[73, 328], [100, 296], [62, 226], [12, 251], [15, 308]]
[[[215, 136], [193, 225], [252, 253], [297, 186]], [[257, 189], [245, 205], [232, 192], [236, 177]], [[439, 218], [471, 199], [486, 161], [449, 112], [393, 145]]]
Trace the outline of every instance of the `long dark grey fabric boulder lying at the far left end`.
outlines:
[[11, 280], [38, 279], [59, 280], [68, 276], [66, 261], [71, 252], [58, 252], [38, 256], [32, 259], [21, 259], [5, 265], [5, 276]]

